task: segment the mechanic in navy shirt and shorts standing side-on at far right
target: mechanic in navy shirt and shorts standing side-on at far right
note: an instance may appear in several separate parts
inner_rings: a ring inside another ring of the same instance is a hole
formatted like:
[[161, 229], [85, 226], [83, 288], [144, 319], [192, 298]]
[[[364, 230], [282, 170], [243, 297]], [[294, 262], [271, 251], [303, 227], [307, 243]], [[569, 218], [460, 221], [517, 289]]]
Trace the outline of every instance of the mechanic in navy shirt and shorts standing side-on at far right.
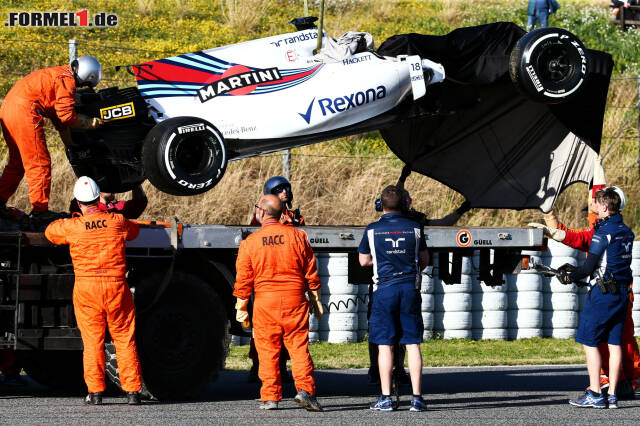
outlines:
[[[587, 276], [592, 284], [580, 315], [576, 342], [582, 343], [587, 359], [589, 388], [584, 395], [569, 401], [577, 407], [618, 408], [616, 385], [622, 363], [622, 328], [629, 303], [631, 248], [634, 234], [622, 222], [620, 196], [614, 188], [595, 194], [598, 221], [589, 246], [586, 262], [573, 272], [562, 271], [558, 279], [564, 284]], [[598, 352], [600, 343], [609, 345], [609, 396], [601, 393]]]

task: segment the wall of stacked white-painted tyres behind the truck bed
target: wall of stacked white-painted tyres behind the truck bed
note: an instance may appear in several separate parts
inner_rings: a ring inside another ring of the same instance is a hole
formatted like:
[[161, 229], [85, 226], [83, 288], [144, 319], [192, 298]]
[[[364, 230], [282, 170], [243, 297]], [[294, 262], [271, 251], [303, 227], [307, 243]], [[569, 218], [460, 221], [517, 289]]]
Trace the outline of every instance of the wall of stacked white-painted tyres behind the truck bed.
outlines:
[[[579, 266], [584, 253], [549, 240], [547, 251], [523, 251], [533, 262], [558, 268]], [[445, 254], [452, 256], [451, 253]], [[504, 275], [504, 284], [488, 286], [478, 279], [479, 254], [463, 256], [460, 282], [445, 284], [438, 274], [438, 258], [422, 272], [420, 293], [424, 339], [467, 338], [512, 340], [530, 337], [575, 337], [586, 287], [565, 285], [534, 270]], [[309, 319], [309, 340], [347, 343], [362, 341], [368, 333], [369, 285], [349, 283], [345, 253], [318, 253], [318, 275], [323, 283], [325, 315]], [[449, 257], [452, 261], [452, 257]], [[493, 261], [493, 259], [491, 259]], [[633, 245], [633, 321], [640, 336], [640, 241]], [[233, 344], [246, 344], [234, 338]]]

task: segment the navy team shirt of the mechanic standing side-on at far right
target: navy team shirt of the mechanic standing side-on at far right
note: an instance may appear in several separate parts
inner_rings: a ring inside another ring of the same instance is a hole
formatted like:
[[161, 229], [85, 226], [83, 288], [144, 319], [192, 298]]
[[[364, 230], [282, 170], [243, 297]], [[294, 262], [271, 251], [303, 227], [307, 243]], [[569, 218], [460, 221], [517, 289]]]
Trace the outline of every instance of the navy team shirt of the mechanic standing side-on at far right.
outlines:
[[618, 283], [629, 283], [631, 276], [631, 248], [635, 235], [622, 223], [622, 215], [609, 216], [597, 222], [591, 238], [589, 255], [599, 257], [600, 271], [611, 273]]

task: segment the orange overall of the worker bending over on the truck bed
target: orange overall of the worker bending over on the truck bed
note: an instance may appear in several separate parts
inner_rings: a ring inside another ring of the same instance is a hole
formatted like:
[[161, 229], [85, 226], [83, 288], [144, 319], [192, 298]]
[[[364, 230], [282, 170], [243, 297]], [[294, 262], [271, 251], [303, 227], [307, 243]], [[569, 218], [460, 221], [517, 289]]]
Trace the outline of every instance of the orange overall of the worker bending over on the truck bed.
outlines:
[[34, 211], [46, 211], [51, 193], [51, 157], [44, 136], [44, 118], [62, 130], [78, 118], [76, 82], [69, 65], [34, 71], [9, 90], [0, 107], [0, 125], [9, 148], [9, 162], [0, 177], [0, 201], [18, 188], [25, 172]]

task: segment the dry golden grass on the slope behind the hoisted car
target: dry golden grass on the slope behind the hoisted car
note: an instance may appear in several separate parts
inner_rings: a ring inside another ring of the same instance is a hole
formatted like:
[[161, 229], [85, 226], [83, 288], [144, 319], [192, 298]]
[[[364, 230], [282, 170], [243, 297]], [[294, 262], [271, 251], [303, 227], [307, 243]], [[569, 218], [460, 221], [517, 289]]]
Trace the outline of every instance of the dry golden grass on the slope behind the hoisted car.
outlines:
[[[524, 3], [524, 0], [518, 1]], [[264, 18], [266, 13], [280, 13], [286, 14], [286, 16], [301, 14], [291, 10], [283, 11], [281, 7], [282, 4], [286, 4], [290, 9], [294, 5], [298, 7], [301, 1], [297, 0], [218, 0], [211, 3], [211, 8], [219, 8], [221, 12], [220, 17], [215, 19], [200, 16], [204, 6], [197, 3], [197, 0], [193, 2], [190, 0], [166, 0], [166, 2], [175, 8], [173, 13], [178, 17], [193, 15], [194, 19], [202, 19], [203, 23], [211, 25], [219, 25], [216, 22], [216, 19], [219, 18], [223, 21], [223, 24], [220, 25], [224, 25], [224, 27], [215, 28], [219, 28], [220, 31], [226, 28], [228, 33], [220, 32], [216, 35], [228, 37], [228, 39], [235, 37], [235, 41], [238, 38], [253, 38], [266, 35], [263, 33], [282, 31], [283, 28], [290, 30], [289, 27], [274, 23], [285, 21], [284, 18], [266, 20]], [[317, 3], [319, 0], [310, 0], [310, 9], [317, 8]], [[561, 3], [564, 7], [565, 4], [578, 2], [566, 0]], [[608, 1], [591, 0], [590, 3], [606, 6]], [[396, 19], [397, 22], [394, 21], [393, 18], [399, 15], [398, 8], [439, 8], [437, 18], [446, 22], [438, 27], [437, 31], [443, 32], [447, 26], [456, 26], [466, 22], [465, 19], [476, 13], [480, 6], [509, 7], [511, 5], [513, 7], [513, 1], [345, 0], [338, 2], [337, 0], [328, 0], [327, 5], [332, 16], [332, 19], [326, 21], [329, 34], [339, 35], [347, 29], [366, 30], [372, 31], [376, 41], [379, 41], [399, 32], [399, 28], [407, 28], [411, 24], [402, 20], [405, 18]], [[160, 0], [137, 0], [131, 7], [134, 9], [134, 13], [141, 17], [153, 15], [157, 10], [163, 9]], [[569, 5], [566, 6], [566, 8], [568, 7]], [[514, 13], [521, 14], [519, 11]], [[427, 14], [423, 14], [422, 18], [424, 16]], [[389, 25], [385, 26], [387, 21]], [[367, 27], [361, 28], [363, 25]], [[256, 33], [251, 33], [252, 29], [255, 29]], [[180, 46], [180, 49], [189, 48], [187, 51], [211, 47], [211, 45], [198, 44], [202, 42], [196, 36], [192, 37], [191, 34], [184, 33], [184, 38], [189, 41], [184, 45], [178, 44], [176, 46]], [[177, 48], [171, 45], [172, 40], [159, 40], [157, 43], [157, 47], [152, 48], [160, 50]], [[124, 54], [129, 53], [124, 52]], [[123, 53], [118, 52], [118, 55], [122, 56]], [[0, 53], [0, 58], [2, 57], [2, 53]], [[117, 60], [120, 61], [119, 63], [123, 63], [122, 61], [133, 61], [134, 59], [119, 57]], [[34, 55], [23, 55], [20, 69], [36, 69], [57, 64], [56, 61], [57, 59], [53, 56], [40, 58]], [[628, 77], [628, 75], [626, 76]], [[123, 78], [118, 75], [115, 77], [110, 75], [109, 77]], [[17, 76], [13, 78], [13, 81], [17, 78]], [[131, 83], [121, 81], [117, 84]], [[616, 80], [612, 82], [608, 103], [613, 106], [628, 107], [638, 101], [637, 94], [638, 86], [634, 80]], [[627, 124], [621, 127], [625, 122]], [[621, 185], [629, 195], [629, 204], [625, 213], [634, 223], [636, 234], [640, 235], [636, 196], [640, 190], [636, 165], [638, 158], [637, 125], [637, 114], [632, 114], [630, 108], [612, 107], [607, 109], [603, 134], [612, 136], [619, 133], [622, 138], [615, 141], [612, 139], [603, 140], [601, 152], [607, 153], [604, 166], [608, 181]], [[63, 210], [67, 208], [68, 201], [72, 198], [71, 190], [74, 176], [61, 150], [59, 139], [51, 129], [48, 129], [48, 140], [53, 157], [54, 182], [51, 207], [54, 210]], [[374, 148], [372, 148], [372, 141]], [[3, 167], [7, 159], [4, 144], [0, 144], [0, 153], [2, 153], [0, 167]], [[301, 207], [309, 224], [366, 224], [377, 216], [373, 209], [373, 200], [383, 186], [396, 181], [401, 166], [400, 161], [393, 159], [393, 155], [384, 148], [384, 144], [377, 135], [341, 139], [295, 149], [291, 164], [291, 181], [295, 193], [294, 204]], [[279, 155], [274, 154], [230, 163], [220, 184], [208, 193], [197, 197], [169, 196], [156, 191], [147, 182], [144, 187], [149, 194], [150, 203], [145, 212], [145, 218], [169, 219], [175, 215], [183, 222], [191, 223], [247, 223], [252, 213], [252, 206], [262, 192], [264, 181], [276, 174], [281, 174], [281, 159]], [[449, 213], [463, 200], [462, 196], [456, 192], [421, 175], [412, 175], [407, 181], [407, 187], [412, 193], [414, 206], [428, 212], [431, 217], [440, 217]], [[580, 208], [585, 204], [585, 188], [586, 186], [582, 184], [575, 185], [565, 191], [559, 199], [559, 213], [570, 225], [581, 225], [585, 219], [584, 214], [580, 212]], [[24, 182], [13, 199], [10, 200], [10, 204], [30, 210]], [[533, 219], [539, 220], [540, 218], [539, 212], [531, 210], [523, 212], [473, 210], [465, 215], [461, 222], [470, 226], [522, 226]]]

